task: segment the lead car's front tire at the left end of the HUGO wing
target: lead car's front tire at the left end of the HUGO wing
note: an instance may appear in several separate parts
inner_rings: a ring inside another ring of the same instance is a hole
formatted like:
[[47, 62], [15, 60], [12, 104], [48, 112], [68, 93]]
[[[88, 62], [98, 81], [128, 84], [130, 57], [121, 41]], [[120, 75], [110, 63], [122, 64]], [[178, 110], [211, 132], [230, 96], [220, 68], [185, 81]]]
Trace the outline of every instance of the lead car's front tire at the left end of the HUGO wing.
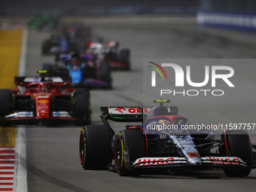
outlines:
[[120, 176], [139, 176], [139, 170], [126, 169], [127, 163], [123, 160], [124, 146], [129, 148], [129, 164], [140, 157], [145, 157], [145, 141], [139, 130], [122, 130], [118, 134], [114, 146], [114, 166]]

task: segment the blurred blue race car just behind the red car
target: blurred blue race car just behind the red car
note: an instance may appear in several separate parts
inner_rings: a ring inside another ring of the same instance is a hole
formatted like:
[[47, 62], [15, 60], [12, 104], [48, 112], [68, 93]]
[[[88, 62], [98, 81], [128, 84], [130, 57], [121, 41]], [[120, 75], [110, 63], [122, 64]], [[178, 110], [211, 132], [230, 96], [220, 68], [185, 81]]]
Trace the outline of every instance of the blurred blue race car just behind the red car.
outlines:
[[71, 77], [72, 87], [112, 88], [111, 66], [102, 54], [62, 54], [59, 59], [54, 64], [44, 63], [41, 70], [50, 76]]

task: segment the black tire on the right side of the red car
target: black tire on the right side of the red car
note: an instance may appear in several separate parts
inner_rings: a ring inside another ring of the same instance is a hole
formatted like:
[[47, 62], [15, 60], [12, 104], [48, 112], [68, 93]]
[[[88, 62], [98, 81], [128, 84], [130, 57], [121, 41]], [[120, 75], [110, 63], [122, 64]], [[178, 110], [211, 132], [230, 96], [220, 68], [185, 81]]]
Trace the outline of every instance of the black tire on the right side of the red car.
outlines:
[[87, 89], [76, 89], [74, 94], [74, 116], [79, 120], [76, 126], [91, 123], [90, 92]]

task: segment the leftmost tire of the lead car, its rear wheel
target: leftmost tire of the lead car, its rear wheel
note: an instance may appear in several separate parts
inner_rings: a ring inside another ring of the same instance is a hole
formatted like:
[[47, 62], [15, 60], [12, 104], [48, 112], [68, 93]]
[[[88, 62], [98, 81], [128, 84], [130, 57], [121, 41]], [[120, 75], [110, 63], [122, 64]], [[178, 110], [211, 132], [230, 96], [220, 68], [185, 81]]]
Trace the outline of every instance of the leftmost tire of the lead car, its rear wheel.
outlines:
[[109, 126], [84, 126], [79, 139], [79, 157], [84, 169], [105, 169], [112, 161], [111, 139], [112, 130]]

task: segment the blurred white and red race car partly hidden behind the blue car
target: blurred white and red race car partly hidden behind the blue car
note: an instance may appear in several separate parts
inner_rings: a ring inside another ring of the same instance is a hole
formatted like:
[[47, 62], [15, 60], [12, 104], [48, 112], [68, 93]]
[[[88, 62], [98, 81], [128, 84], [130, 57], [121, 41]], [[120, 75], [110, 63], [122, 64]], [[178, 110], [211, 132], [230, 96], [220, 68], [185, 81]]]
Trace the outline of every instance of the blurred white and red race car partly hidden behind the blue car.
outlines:
[[117, 41], [91, 41], [87, 42], [86, 47], [90, 53], [104, 53], [105, 60], [108, 61], [112, 69], [130, 70], [130, 50], [119, 49]]

